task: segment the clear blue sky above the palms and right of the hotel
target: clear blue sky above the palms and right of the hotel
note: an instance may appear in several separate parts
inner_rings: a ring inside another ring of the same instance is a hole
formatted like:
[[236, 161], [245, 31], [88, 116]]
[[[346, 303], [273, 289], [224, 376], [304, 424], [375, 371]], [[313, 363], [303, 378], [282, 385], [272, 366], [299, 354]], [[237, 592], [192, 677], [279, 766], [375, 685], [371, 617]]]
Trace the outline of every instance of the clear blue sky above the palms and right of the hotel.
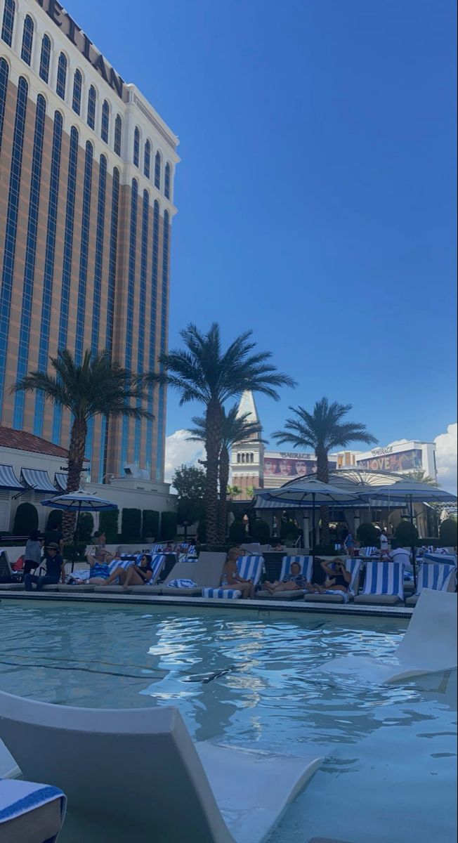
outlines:
[[[180, 136], [170, 347], [193, 320], [351, 402], [381, 444], [455, 413], [455, 3], [75, 0]], [[132, 24], [127, 26], [127, 16]], [[198, 410], [169, 395], [167, 431]]]

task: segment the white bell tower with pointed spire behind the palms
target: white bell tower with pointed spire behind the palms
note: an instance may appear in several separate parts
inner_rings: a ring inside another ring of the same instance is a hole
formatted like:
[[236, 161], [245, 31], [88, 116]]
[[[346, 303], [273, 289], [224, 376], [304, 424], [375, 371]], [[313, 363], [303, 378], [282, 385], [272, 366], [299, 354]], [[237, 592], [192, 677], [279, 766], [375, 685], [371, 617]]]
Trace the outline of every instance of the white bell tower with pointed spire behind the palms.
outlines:
[[231, 485], [239, 486], [240, 498], [250, 497], [246, 489], [250, 486], [264, 486], [264, 444], [261, 442], [262, 427], [257, 413], [255, 399], [247, 389], [240, 398], [237, 416], [245, 416], [245, 421], [256, 424], [256, 432], [251, 433], [246, 442], [234, 445], [230, 454]]

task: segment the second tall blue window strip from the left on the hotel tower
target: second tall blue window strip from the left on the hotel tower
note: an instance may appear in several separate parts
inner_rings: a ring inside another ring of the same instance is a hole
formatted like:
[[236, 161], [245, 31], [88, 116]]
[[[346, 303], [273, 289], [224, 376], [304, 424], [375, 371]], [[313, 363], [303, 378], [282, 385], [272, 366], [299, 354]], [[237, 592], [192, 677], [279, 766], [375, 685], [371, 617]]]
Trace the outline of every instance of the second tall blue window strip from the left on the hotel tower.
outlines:
[[29, 86], [20, 76], [16, 115], [14, 117], [13, 148], [11, 151], [11, 169], [9, 174], [8, 208], [5, 226], [5, 245], [3, 252], [2, 292], [0, 293], [0, 416], [3, 404], [5, 366], [8, 349], [9, 317], [11, 313], [11, 294], [13, 291], [13, 271], [16, 257], [16, 236], [18, 233], [19, 191], [22, 173], [22, 155], [24, 149], [25, 116]]

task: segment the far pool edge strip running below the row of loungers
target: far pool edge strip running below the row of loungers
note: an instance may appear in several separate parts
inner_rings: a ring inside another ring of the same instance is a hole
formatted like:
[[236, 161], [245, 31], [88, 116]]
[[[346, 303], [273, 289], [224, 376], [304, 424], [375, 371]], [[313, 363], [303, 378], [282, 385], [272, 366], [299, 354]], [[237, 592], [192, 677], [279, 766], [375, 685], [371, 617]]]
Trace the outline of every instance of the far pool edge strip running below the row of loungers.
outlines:
[[142, 606], [191, 606], [194, 609], [226, 609], [227, 611], [243, 611], [254, 612], [255, 615], [266, 615], [271, 612], [288, 612], [292, 615], [311, 614], [311, 615], [347, 615], [348, 617], [364, 617], [369, 616], [373, 618], [403, 618], [409, 620], [412, 617], [413, 609], [397, 604], [396, 606], [363, 606], [352, 603], [336, 604], [336, 603], [307, 603], [306, 600], [221, 600], [221, 599], [207, 599], [202, 597], [164, 597], [163, 595], [150, 595], [143, 597], [142, 594], [121, 594], [121, 593], [57, 593], [51, 591], [44, 591], [37, 593], [33, 592], [18, 592], [18, 591], [0, 591], [0, 602], [2, 600], [32, 600], [32, 601], [46, 601], [46, 603], [110, 603], [110, 604], [124, 604], [124, 605], [142, 605]]

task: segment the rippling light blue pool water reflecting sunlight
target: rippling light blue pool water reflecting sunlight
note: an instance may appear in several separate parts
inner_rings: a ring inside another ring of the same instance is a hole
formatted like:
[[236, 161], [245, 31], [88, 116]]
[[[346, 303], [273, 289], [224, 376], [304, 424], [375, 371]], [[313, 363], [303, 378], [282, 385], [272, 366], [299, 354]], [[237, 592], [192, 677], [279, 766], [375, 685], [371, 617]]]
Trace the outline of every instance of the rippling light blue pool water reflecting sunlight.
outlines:
[[60, 705], [174, 705], [196, 740], [323, 754], [269, 843], [452, 843], [456, 672], [385, 686], [319, 671], [347, 652], [390, 660], [405, 629], [265, 609], [4, 601], [0, 687]]

